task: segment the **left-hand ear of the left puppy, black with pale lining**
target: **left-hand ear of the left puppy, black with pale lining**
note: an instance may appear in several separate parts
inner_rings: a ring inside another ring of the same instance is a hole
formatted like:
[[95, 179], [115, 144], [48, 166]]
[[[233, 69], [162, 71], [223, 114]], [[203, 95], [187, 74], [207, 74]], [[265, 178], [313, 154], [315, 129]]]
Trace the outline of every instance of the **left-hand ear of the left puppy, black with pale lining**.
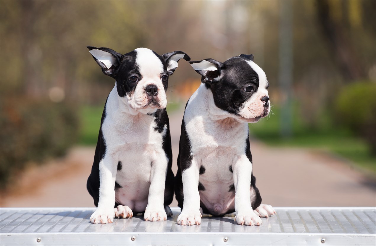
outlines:
[[102, 72], [105, 75], [115, 78], [120, 59], [123, 55], [109, 48], [87, 47], [90, 54], [94, 57], [94, 60], [96, 60], [98, 65], [102, 68]]

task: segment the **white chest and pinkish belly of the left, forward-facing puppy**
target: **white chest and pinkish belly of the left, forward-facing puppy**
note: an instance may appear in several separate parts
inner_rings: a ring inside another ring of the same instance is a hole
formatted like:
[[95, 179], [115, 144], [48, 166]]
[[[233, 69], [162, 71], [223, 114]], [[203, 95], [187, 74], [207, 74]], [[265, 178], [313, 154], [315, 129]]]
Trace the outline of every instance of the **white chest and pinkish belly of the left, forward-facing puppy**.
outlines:
[[106, 155], [113, 155], [121, 163], [116, 182], [121, 186], [115, 192], [115, 201], [135, 211], [144, 211], [150, 188], [150, 172], [162, 149], [167, 126], [159, 133], [155, 130], [154, 116], [131, 114], [119, 99], [116, 87], [106, 104], [106, 117], [102, 132]]

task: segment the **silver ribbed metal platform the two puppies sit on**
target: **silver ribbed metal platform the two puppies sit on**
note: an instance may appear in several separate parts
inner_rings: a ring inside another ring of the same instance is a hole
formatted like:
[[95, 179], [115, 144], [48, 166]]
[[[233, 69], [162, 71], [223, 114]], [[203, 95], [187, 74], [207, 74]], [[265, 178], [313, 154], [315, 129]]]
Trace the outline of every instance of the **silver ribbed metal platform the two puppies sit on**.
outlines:
[[0, 208], [0, 245], [376, 245], [376, 208], [279, 207], [261, 226], [241, 226], [234, 214], [204, 216], [201, 225], [141, 214], [91, 224], [94, 208]]

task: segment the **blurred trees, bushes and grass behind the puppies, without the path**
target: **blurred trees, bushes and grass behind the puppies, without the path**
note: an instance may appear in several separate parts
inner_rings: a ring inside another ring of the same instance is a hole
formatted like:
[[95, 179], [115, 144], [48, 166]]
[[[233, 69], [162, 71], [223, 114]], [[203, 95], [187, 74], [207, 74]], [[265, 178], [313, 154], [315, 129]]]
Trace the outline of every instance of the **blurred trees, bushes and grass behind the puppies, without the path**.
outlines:
[[[77, 138], [79, 144], [96, 142], [114, 80], [103, 75], [86, 45], [120, 53], [138, 47], [159, 54], [182, 50], [192, 60], [254, 54], [275, 105], [274, 115], [250, 126], [256, 137], [272, 145], [326, 148], [374, 170], [370, 136], [376, 113], [369, 88], [376, 81], [376, 1], [289, 1], [294, 114], [288, 139], [280, 130], [286, 100], [279, 84], [284, 3], [0, 0], [0, 180], [27, 161], [63, 154]], [[190, 65], [180, 62], [169, 79], [169, 105], [184, 105], [182, 88], [197, 80]], [[52, 102], [52, 88], [64, 92], [61, 102]]]

